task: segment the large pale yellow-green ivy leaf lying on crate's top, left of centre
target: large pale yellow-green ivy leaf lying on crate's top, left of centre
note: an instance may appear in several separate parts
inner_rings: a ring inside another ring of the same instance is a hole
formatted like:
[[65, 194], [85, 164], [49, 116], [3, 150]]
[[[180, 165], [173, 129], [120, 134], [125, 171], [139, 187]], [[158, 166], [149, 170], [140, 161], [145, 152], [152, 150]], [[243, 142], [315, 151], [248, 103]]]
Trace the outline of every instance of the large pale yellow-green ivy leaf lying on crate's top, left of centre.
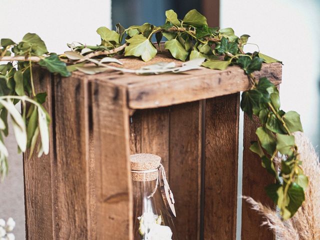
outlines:
[[126, 39], [128, 46], [124, 49], [125, 56], [141, 56], [143, 61], [151, 60], [155, 54], [156, 49], [152, 43], [143, 35], [134, 35], [130, 39]]

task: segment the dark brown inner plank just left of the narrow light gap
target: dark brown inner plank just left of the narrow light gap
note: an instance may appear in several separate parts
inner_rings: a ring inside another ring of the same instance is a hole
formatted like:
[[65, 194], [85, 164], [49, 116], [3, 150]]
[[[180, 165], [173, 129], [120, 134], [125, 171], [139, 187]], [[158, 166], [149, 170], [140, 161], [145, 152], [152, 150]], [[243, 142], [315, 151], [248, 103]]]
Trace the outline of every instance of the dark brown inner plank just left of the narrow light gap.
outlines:
[[[235, 239], [239, 93], [206, 99], [203, 239]], [[259, 238], [246, 238], [259, 239]]]

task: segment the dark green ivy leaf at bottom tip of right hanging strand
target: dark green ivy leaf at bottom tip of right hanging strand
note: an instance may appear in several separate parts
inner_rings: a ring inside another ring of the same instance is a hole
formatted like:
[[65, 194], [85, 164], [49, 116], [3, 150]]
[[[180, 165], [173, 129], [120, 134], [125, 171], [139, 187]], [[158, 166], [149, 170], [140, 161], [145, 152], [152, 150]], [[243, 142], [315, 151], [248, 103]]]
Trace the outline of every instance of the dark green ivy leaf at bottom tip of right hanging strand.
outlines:
[[[288, 197], [290, 198], [287, 209], [290, 211], [291, 216], [299, 209], [304, 201], [304, 191], [301, 186], [296, 183], [292, 183], [288, 189]], [[285, 219], [286, 220], [286, 219]]]

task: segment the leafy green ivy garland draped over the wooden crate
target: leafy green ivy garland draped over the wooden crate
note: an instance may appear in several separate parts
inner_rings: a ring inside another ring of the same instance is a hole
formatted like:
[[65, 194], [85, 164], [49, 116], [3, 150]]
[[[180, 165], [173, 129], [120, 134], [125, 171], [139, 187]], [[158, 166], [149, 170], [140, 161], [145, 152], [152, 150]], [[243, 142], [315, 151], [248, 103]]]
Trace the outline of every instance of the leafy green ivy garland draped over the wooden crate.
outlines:
[[[209, 27], [206, 18], [195, 9], [190, 10], [182, 20], [173, 10], [167, 10], [165, 15], [166, 22], [161, 26], [144, 23], [124, 28], [118, 23], [116, 31], [99, 27], [99, 45], [73, 42], [68, 44], [71, 50], [61, 55], [48, 53], [44, 42], [34, 33], [27, 33], [18, 43], [1, 39], [0, 60], [9, 62], [0, 65], [0, 173], [3, 176], [7, 172], [8, 154], [2, 139], [2, 135], [8, 134], [7, 115], [11, 116], [19, 150], [24, 152], [28, 148], [32, 154], [40, 135], [38, 156], [42, 152], [48, 153], [50, 118], [42, 106], [46, 93], [35, 93], [32, 62], [62, 76], [69, 76], [74, 70], [94, 74], [112, 68], [137, 74], [157, 74], [198, 68], [199, 64], [220, 70], [238, 65], [251, 83], [251, 88], [242, 93], [240, 106], [250, 118], [254, 115], [261, 123], [256, 129], [258, 141], [252, 142], [250, 150], [261, 157], [262, 166], [275, 178], [274, 184], [265, 187], [267, 194], [277, 204], [282, 218], [290, 218], [304, 201], [304, 190], [308, 185], [292, 135], [294, 131], [302, 131], [300, 116], [295, 111], [280, 110], [276, 86], [266, 77], [256, 79], [253, 74], [261, 69], [262, 62], [278, 60], [260, 52], [245, 53], [243, 46], [250, 44], [247, 42], [249, 35], [238, 37], [232, 28]], [[119, 59], [112, 57], [115, 55], [137, 56], [144, 61], [152, 59], [157, 53], [152, 36], [155, 36], [159, 47], [164, 36], [167, 39], [164, 48], [174, 58], [191, 61], [181, 67], [169, 63], [138, 70], [106, 64], [121, 64]], [[22, 114], [14, 107], [19, 100], [22, 101]], [[31, 104], [28, 110], [26, 102]], [[278, 158], [281, 163], [276, 166]]]

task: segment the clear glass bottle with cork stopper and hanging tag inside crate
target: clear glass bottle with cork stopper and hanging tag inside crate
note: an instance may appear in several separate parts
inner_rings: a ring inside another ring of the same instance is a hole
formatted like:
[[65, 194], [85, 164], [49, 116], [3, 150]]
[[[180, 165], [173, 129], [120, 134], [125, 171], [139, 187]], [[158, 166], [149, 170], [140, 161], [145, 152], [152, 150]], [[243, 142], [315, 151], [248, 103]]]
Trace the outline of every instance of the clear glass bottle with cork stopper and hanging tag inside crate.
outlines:
[[134, 240], [178, 240], [173, 194], [160, 161], [154, 154], [130, 156]]

